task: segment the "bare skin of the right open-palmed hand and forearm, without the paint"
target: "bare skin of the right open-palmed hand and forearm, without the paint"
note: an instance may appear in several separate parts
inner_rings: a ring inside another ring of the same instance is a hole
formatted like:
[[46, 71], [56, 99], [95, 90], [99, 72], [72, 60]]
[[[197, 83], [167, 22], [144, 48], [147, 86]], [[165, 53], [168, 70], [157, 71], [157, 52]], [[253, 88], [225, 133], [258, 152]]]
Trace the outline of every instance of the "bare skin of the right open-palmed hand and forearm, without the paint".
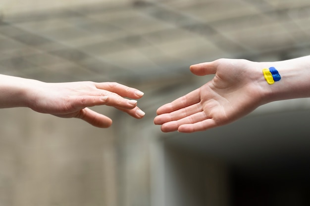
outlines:
[[[262, 75], [262, 69], [271, 66], [282, 77], [274, 84]], [[190, 70], [198, 76], [215, 76], [157, 109], [154, 123], [163, 132], [203, 131], [229, 124], [268, 102], [310, 97], [310, 56], [279, 62], [218, 59], [192, 65]]]

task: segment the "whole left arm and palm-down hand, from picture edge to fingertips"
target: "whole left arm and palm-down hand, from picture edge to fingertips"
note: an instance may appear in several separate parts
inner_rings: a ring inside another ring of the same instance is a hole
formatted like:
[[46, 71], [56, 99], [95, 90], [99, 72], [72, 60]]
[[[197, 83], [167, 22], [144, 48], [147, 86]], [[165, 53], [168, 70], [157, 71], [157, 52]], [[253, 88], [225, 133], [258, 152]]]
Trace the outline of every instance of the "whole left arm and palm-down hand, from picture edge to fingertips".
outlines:
[[137, 119], [145, 115], [135, 100], [143, 92], [116, 82], [48, 83], [5, 75], [0, 75], [0, 82], [0, 108], [29, 107], [61, 118], [79, 118], [102, 128], [109, 127], [112, 120], [89, 107], [111, 106]]

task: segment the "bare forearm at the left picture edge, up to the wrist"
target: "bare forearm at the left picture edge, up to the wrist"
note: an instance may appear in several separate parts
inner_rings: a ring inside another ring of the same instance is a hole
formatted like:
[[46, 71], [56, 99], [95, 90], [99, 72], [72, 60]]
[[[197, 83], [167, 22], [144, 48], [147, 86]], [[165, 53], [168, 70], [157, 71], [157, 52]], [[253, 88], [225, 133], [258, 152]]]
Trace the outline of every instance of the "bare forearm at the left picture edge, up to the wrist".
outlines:
[[28, 107], [28, 94], [34, 82], [6, 75], [0, 75], [0, 108]]

